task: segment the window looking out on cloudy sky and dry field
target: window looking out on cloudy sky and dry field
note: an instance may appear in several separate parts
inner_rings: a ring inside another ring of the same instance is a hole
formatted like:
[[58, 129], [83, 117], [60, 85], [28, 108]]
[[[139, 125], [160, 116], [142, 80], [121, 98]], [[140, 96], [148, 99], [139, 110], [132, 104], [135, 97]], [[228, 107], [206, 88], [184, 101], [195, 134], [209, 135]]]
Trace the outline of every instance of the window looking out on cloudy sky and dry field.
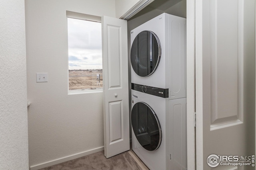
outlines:
[[69, 91], [102, 89], [101, 23], [87, 18], [68, 16]]

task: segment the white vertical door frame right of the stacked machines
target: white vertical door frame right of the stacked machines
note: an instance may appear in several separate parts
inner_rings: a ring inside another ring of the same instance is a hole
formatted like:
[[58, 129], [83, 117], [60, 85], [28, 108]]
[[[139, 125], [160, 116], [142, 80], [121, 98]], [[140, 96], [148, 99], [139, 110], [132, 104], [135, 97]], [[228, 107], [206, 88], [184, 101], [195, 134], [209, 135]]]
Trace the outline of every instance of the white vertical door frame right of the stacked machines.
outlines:
[[187, 168], [196, 170], [195, 0], [186, 2], [187, 13]]

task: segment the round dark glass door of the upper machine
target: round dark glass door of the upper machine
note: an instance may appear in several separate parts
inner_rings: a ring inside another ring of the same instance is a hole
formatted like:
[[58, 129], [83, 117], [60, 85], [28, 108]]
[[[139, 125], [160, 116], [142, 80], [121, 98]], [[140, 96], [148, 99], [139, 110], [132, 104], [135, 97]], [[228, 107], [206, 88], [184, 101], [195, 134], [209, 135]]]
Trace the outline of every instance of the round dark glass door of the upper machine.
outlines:
[[132, 43], [130, 57], [136, 74], [142, 77], [153, 74], [161, 57], [161, 45], [156, 34], [152, 31], [140, 32]]

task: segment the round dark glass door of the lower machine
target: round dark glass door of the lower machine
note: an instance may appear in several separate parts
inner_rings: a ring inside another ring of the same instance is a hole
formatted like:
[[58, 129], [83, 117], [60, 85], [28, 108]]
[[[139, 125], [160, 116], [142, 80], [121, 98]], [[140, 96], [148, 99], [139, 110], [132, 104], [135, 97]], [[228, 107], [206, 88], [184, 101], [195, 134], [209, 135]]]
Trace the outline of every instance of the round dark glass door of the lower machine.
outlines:
[[132, 107], [132, 129], [142, 147], [156, 150], [162, 141], [162, 130], [154, 110], [144, 102]]

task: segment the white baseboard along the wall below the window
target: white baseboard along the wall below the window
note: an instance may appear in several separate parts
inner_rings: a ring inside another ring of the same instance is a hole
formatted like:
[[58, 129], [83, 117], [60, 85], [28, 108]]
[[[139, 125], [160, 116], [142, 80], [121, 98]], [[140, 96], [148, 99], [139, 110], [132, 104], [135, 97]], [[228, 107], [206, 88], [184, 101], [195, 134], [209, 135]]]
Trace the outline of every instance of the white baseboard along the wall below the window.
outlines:
[[59, 159], [51, 160], [51, 161], [48, 161], [48, 162], [44, 162], [42, 164], [30, 166], [30, 170], [39, 170], [41, 168], [46, 168], [48, 166], [60, 164], [62, 162], [66, 162], [68, 160], [80, 158], [82, 156], [86, 156], [86, 155], [89, 155], [89, 154], [100, 152], [102, 150], [104, 150], [104, 147], [98, 147], [98, 148], [95, 148], [95, 149], [91, 149], [91, 150], [87, 150], [87, 151], [84, 151], [84, 152], [80, 152], [78, 154], [73, 154], [73, 155], [70, 155], [70, 156], [65, 156], [63, 158], [59, 158]]

